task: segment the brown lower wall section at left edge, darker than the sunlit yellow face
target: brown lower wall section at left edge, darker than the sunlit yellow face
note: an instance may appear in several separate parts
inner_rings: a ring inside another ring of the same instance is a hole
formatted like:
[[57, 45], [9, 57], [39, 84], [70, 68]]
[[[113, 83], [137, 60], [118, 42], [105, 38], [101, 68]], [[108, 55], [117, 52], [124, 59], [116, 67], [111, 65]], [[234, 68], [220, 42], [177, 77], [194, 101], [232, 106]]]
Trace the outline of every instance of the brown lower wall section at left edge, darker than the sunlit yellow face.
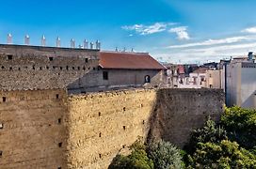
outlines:
[[65, 98], [57, 89], [0, 92], [1, 169], [66, 168]]

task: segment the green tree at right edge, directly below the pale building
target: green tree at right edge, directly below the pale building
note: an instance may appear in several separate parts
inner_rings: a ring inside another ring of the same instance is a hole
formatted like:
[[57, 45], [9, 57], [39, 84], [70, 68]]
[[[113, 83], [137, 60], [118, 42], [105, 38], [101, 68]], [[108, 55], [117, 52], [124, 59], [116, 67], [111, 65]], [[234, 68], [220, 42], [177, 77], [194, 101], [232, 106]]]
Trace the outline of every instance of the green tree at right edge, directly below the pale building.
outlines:
[[232, 141], [248, 149], [256, 146], [256, 109], [226, 108], [221, 124]]

